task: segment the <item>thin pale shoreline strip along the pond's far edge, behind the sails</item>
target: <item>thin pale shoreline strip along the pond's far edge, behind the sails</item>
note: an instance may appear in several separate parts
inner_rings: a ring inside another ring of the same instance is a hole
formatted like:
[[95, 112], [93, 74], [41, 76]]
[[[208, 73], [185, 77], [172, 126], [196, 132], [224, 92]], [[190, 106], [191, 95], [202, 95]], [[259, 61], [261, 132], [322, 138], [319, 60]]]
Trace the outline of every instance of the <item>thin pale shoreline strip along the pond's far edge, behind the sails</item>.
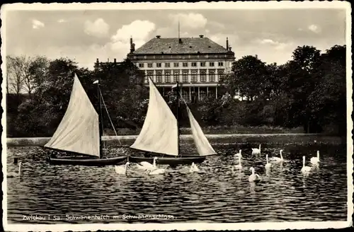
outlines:
[[[258, 142], [258, 141], [277, 141], [277, 142], [343, 142], [343, 138], [328, 134], [299, 134], [299, 133], [280, 133], [280, 134], [205, 134], [207, 139], [211, 142], [215, 140], [229, 140], [229, 142]], [[20, 137], [20, 138], [6, 138], [7, 146], [43, 146], [50, 140], [51, 137]], [[137, 135], [118, 135], [118, 136], [103, 136], [102, 141], [106, 143], [120, 143], [130, 144], [137, 139]], [[182, 141], [193, 139], [192, 134], [181, 134]]]

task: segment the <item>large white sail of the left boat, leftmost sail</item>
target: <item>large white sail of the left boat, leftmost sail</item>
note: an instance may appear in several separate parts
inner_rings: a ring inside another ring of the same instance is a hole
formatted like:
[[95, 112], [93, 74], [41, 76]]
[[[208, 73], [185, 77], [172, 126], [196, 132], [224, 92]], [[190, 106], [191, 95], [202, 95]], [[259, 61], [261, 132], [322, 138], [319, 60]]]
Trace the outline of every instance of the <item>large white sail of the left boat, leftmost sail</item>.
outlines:
[[67, 112], [46, 147], [100, 156], [98, 114], [76, 74]]

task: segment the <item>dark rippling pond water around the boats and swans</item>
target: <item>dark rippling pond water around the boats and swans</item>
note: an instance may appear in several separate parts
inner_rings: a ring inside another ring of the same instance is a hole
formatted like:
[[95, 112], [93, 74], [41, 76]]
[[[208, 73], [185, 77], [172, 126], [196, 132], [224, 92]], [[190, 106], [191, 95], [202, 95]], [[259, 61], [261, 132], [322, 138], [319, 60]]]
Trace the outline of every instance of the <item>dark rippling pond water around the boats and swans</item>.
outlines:
[[[184, 144], [184, 147], [190, 145]], [[233, 154], [242, 150], [242, 168]], [[265, 153], [284, 161], [265, 170]], [[308, 175], [301, 173], [302, 156], [316, 156], [321, 163]], [[133, 163], [127, 175], [118, 175], [113, 166], [50, 166], [37, 147], [8, 148], [8, 171], [16, 171], [13, 157], [23, 162], [21, 178], [8, 178], [8, 223], [135, 223], [152, 219], [113, 219], [122, 214], [173, 215], [173, 221], [254, 222], [254, 221], [335, 221], [346, 220], [347, 179], [344, 146], [266, 146], [261, 155], [251, 155], [248, 145], [215, 146], [219, 156], [198, 165], [161, 166], [164, 175], [146, 175]], [[127, 148], [110, 148], [112, 155], [131, 153]], [[311, 154], [311, 155], [309, 155]], [[253, 167], [260, 182], [249, 182]], [[109, 215], [105, 220], [69, 220], [65, 215]], [[23, 221], [23, 216], [46, 216], [42, 221]], [[53, 220], [57, 216], [58, 221]], [[60, 217], [60, 218], [59, 218]], [[159, 220], [154, 222], [171, 222]]]

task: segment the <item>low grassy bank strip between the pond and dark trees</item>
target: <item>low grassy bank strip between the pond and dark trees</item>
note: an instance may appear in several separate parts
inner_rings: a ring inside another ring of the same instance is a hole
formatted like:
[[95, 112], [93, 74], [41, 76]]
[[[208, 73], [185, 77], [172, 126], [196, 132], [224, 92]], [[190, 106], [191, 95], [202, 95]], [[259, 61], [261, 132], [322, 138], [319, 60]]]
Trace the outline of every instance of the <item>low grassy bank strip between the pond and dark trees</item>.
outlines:
[[[343, 137], [326, 136], [323, 134], [206, 134], [212, 144], [344, 144]], [[102, 137], [105, 144], [130, 146], [136, 135], [105, 136]], [[8, 146], [42, 146], [49, 141], [49, 137], [42, 138], [8, 138]], [[181, 135], [181, 144], [193, 141], [191, 134]]]

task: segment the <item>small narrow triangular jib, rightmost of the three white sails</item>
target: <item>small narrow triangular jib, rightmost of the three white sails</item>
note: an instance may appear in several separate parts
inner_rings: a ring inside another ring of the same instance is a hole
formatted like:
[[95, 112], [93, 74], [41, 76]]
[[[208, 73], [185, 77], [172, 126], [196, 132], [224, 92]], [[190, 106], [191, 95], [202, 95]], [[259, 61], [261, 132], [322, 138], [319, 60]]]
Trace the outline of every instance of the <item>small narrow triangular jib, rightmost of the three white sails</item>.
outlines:
[[192, 129], [194, 143], [195, 146], [197, 147], [199, 155], [200, 156], [215, 155], [216, 152], [212, 148], [212, 145], [209, 143], [209, 141], [207, 141], [207, 137], [205, 137], [205, 134], [202, 132], [202, 128], [200, 128], [200, 125], [198, 124], [197, 120], [195, 120], [195, 118], [193, 117], [193, 114], [192, 112], [190, 112], [188, 106], [187, 106], [187, 112], [188, 112], [190, 127]]

